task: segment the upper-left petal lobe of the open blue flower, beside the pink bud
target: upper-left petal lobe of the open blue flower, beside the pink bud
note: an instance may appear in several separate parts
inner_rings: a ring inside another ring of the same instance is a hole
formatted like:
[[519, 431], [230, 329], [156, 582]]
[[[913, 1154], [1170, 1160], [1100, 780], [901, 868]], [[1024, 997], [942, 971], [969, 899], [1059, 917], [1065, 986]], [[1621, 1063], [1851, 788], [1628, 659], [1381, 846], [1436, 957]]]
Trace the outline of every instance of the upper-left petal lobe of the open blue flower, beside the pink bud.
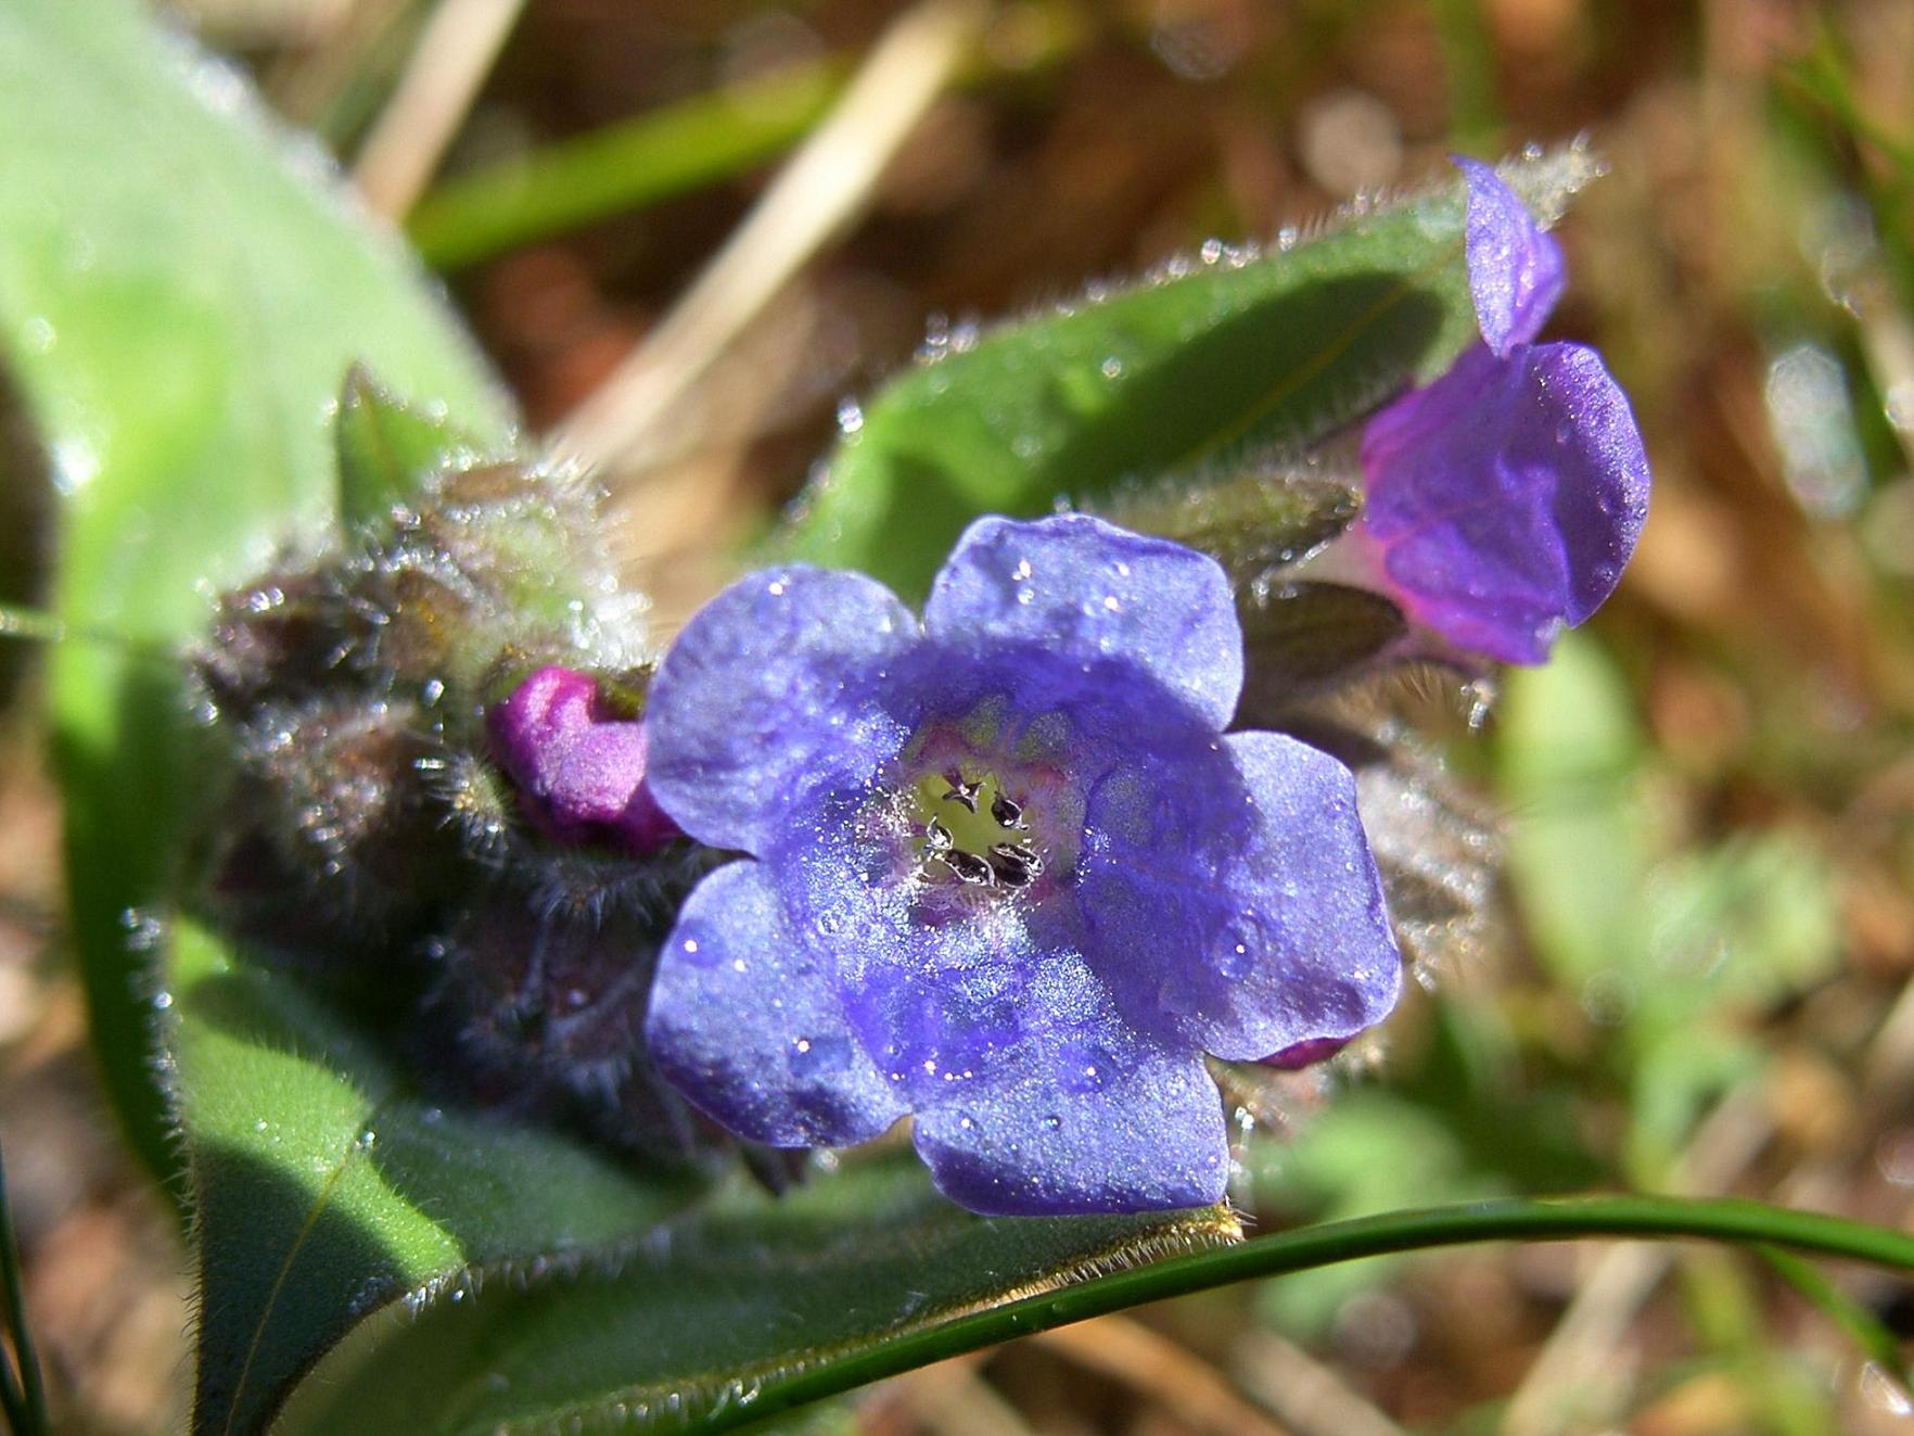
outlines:
[[917, 618], [863, 574], [754, 572], [678, 636], [651, 685], [651, 789], [691, 837], [762, 854], [794, 795], [856, 781], [903, 729], [871, 699], [873, 674], [921, 638]]

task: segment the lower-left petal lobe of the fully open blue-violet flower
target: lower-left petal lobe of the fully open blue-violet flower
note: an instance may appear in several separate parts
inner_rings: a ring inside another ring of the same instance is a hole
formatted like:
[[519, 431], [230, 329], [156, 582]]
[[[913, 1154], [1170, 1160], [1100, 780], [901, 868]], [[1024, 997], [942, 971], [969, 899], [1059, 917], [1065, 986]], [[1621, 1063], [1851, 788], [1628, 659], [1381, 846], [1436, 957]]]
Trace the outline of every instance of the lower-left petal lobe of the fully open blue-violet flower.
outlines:
[[691, 892], [658, 954], [645, 1040], [672, 1086], [752, 1141], [840, 1147], [905, 1112], [844, 1019], [829, 957], [790, 931], [756, 862]]

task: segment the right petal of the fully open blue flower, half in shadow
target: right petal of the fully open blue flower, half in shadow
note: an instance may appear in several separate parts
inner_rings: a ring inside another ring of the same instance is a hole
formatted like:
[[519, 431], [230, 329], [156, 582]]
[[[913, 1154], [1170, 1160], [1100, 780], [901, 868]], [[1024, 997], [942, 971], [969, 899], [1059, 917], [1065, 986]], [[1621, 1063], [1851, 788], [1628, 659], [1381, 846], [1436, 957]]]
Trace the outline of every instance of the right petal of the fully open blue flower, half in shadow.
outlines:
[[1326, 752], [1233, 733], [1112, 774], [1089, 825], [1089, 950], [1139, 1028], [1256, 1061], [1395, 1005], [1401, 955], [1355, 779]]

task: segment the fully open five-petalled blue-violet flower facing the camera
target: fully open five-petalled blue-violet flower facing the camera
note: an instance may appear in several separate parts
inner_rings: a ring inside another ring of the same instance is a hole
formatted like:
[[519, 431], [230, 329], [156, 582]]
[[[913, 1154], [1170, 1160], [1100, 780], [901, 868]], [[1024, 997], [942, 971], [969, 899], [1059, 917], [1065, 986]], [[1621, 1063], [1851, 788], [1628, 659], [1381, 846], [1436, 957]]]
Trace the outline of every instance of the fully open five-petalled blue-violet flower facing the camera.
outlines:
[[647, 1040], [731, 1132], [905, 1114], [978, 1212], [1194, 1206], [1229, 1141], [1204, 1053], [1347, 1038], [1401, 959], [1347, 768], [1229, 733], [1223, 571], [1099, 519], [980, 519], [919, 620], [758, 572], [658, 668], [651, 785], [708, 875]]

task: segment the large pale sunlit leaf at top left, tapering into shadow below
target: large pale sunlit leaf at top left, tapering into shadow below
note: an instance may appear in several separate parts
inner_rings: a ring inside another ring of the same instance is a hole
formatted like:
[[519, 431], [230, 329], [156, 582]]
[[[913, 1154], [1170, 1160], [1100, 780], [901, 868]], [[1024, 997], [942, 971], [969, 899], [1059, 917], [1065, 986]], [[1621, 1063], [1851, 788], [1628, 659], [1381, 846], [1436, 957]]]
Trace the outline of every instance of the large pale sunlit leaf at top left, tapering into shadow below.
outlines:
[[[144, 8], [0, 8], [0, 345], [52, 456], [71, 628], [170, 649], [203, 630], [209, 582], [329, 519], [327, 412], [354, 360], [486, 442], [507, 435], [509, 402], [415, 264]], [[52, 714], [96, 1049], [167, 1172], [142, 976], [157, 954], [130, 938], [172, 902], [201, 787], [182, 678], [67, 643]]]

